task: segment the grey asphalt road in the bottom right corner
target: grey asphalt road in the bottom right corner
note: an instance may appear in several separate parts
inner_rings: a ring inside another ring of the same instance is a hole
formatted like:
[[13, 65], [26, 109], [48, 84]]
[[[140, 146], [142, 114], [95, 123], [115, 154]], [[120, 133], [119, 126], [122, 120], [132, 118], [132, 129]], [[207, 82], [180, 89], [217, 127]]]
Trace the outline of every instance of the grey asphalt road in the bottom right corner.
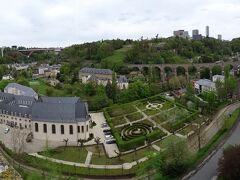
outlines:
[[213, 180], [217, 176], [218, 160], [223, 155], [223, 149], [228, 145], [240, 144], [240, 123], [238, 119], [237, 127], [234, 129], [232, 135], [226, 140], [224, 145], [214, 154], [211, 159], [195, 174], [190, 180]]

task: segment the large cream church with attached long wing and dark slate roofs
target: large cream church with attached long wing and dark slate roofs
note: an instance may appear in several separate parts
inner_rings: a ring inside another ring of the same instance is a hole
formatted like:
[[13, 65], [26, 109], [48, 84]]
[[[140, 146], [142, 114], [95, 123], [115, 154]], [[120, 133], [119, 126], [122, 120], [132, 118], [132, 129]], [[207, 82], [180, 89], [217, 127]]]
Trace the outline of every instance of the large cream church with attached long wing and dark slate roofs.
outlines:
[[76, 143], [88, 139], [92, 119], [78, 97], [33, 97], [0, 92], [0, 123], [24, 128], [34, 139]]

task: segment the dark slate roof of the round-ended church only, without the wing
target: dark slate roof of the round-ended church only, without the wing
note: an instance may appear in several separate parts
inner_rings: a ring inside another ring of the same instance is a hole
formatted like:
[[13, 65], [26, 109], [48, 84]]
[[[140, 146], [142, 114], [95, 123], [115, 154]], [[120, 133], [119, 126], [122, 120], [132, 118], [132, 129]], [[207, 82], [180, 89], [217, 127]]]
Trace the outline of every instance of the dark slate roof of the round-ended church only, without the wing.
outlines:
[[88, 119], [87, 104], [77, 97], [41, 97], [32, 106], [33, 121], [76, 123]]

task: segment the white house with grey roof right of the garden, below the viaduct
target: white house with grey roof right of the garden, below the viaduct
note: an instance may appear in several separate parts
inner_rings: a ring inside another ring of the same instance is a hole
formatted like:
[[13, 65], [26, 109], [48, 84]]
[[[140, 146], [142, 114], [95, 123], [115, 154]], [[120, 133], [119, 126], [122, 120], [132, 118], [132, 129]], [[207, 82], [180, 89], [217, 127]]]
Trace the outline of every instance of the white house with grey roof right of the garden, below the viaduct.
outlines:
[[197, 93], [204, 91], [216, 91], [215, 83], [209, 79], [200, 79], [194, 83], [194, 88]]

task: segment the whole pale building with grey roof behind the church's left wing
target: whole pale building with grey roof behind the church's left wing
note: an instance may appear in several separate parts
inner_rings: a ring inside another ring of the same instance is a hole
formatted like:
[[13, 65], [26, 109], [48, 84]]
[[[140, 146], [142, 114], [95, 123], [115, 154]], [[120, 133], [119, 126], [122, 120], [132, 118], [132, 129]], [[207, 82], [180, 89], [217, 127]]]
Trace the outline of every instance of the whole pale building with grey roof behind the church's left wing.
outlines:
[[34, 97], [35, 99], [38, 99], [38, 94], [32, 88], [17, 83], [9, 83], [4, 88], [4, 92], [14, 95]]

